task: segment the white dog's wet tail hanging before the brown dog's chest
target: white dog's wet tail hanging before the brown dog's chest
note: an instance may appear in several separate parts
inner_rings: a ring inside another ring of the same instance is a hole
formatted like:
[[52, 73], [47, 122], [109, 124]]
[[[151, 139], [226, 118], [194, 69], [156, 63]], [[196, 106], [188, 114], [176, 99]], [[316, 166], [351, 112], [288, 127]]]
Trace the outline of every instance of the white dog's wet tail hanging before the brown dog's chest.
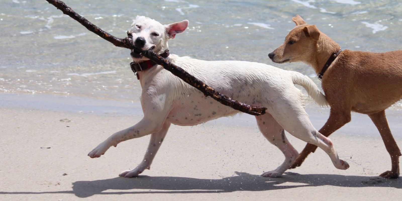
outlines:
[[310, 95], [314, 101], [320, 106], [327, 106], [328, 102], [325, 99], [325, 95], [320, 91], [317, 85], [308, 76], [305, 76], [299, 72], [292, 71], [293, 84], [298, 84], [306, 89], [308, 95]]

